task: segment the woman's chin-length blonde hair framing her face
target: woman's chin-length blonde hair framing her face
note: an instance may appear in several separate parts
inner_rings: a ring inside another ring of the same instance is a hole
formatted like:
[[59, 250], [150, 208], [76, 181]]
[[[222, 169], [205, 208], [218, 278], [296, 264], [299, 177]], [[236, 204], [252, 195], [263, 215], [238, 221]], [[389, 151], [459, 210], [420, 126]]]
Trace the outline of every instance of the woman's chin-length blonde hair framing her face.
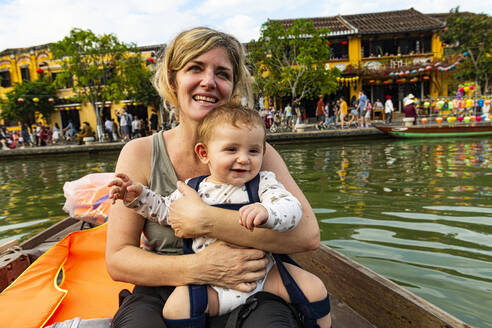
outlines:
[[166, 47], [153, 79], [154, 87], [162, 99], [176, 107], [177, 117], [179, 117], [176, 94], [177, 72], [194, 58], [218, 47], [227, 52], [233, 68], [233, 90], [230, 102], [240, 104], [241, 98], [246, 97], [248, 105], [253, 104], [251, 76], [245, 65], [245, 54], [241, 43], [229, 34], [207, 27], [196, 27], [181, 32]]

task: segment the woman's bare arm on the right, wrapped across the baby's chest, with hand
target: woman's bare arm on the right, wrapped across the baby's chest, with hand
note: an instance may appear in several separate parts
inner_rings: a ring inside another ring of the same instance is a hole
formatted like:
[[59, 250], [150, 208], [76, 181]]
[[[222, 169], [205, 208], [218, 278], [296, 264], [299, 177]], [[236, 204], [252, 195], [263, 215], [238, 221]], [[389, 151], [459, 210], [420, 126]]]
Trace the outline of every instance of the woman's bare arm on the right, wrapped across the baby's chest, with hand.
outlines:
[[289, 174], [278, 152], [267, 144], [262, 170], [272, 171], [277, 180], [296, 197], [302, 206], [299, 225], [288, 232], [254, 229], [250, 232], [238, 224], [238, 213], [207, 206], [190, 187], [179, 184], [184, 197], [173, 202], [169, 221], [179, 237], [207, 235], [240, 246], [255, 247], [274, 253], [295, 253], [319, 247], [319, 226], [306, 197]]

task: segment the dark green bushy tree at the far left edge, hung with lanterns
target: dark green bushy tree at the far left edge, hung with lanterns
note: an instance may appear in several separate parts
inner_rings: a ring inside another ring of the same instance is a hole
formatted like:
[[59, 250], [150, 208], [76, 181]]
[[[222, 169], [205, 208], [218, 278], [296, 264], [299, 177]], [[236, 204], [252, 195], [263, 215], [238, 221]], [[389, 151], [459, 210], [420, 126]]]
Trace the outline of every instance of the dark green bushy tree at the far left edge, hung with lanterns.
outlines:
[[2, 118], [31, 125], [36, 121], [36, 113], [39, 113], [49, 121], [55, 99], [56, 88], [44, 75], [36, 81], [15, 84], [2, 106]]

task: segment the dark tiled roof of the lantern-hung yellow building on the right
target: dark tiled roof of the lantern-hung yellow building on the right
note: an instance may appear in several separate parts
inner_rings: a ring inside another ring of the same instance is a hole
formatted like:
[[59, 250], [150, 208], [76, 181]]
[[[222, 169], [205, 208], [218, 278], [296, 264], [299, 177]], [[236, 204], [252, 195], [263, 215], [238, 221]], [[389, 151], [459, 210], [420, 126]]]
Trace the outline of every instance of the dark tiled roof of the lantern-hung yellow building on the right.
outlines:
[[[339, 15], [331, 17], [306, 18], [312, 20], [317, 28], [328, 27], [330, 34], [381, 34], [414, 31], [432, 31], [443, 27], [443, 21], [433, 14], [422, 14], [410, 8], [379, 13]], [[289, 27], [294, 19], [279, 20]]]

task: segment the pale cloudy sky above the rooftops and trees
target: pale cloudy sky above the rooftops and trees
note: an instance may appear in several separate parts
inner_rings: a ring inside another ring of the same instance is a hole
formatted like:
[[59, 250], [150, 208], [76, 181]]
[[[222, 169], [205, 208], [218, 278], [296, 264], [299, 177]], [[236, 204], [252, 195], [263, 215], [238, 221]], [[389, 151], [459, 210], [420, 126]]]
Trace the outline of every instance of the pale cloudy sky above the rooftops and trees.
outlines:
[[492, 15], [492, 0], [0, 0], [0, 51], [56, 42], [74, 27], [138, 46], [168, 43], [207, 26], [248, 42], [268, 19], [360, 14], [413, 7], [422, 13]]

